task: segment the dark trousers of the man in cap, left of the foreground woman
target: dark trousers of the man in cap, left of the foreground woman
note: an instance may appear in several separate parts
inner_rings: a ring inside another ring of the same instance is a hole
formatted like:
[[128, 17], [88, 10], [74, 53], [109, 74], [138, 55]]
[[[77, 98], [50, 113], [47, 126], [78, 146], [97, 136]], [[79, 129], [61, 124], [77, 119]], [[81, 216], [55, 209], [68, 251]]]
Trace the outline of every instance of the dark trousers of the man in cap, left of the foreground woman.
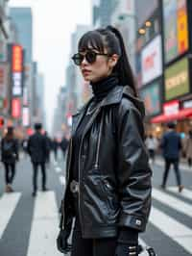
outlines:
[[46, 170], [45, 170], [45, 163], [33, 163], [34, 167], [34, 176], [33, 176], [33, 186], [34, 186], [34, 192], [37, 190], [37, 172], [38, 172], [38, 166], [40, 166], [41, 174], [42, 174], [42, 190], [46, 188]]

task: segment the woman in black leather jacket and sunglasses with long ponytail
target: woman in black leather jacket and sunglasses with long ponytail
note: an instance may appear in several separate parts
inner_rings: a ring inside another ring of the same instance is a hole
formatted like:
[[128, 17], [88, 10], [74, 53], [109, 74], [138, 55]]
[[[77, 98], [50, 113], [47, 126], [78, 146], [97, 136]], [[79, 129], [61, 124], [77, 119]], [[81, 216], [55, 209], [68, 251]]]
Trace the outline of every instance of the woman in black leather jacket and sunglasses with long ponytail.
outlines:
[[118, 30], [86, 33], [73, 56], [93, 97], [73, 116], [58, 248], [71, 256], [138, 255], [151, 208], [144, 108]]

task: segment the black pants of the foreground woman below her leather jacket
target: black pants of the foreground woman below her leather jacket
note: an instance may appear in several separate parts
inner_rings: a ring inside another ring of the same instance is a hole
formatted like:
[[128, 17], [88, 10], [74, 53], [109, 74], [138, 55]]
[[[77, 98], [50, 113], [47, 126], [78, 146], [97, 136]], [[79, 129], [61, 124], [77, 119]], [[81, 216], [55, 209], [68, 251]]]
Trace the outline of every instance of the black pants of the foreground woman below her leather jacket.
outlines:
[[116, 238], [83, 239], [80, 225], [76, 221], [71, 256], [114, 256], [116, 241]]

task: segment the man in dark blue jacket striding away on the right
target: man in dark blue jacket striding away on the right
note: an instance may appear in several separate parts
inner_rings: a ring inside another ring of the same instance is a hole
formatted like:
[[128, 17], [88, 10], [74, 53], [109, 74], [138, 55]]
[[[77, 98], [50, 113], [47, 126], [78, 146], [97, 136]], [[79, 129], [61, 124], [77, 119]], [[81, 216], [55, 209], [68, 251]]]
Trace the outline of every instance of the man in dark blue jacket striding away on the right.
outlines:
[[181, 150], [181, 139], [180, 134], [178, 134], [176, 129], [176, 124], [174, 122], [169, 122], [167, 124], [168, 131], [163, 135], [161, 141], [161, 148], [163, 151], [163, 157], [165, 161], [165, 170], [163, 174], [161, 188], [165, 189], [167, 177], [169, 174], [170, 166], [173, 165], [175, 169], [176, 179], [178, 183], [179, 192], [182, 191], [183, 185], [181, 185], [180, 178], [180, 150]]

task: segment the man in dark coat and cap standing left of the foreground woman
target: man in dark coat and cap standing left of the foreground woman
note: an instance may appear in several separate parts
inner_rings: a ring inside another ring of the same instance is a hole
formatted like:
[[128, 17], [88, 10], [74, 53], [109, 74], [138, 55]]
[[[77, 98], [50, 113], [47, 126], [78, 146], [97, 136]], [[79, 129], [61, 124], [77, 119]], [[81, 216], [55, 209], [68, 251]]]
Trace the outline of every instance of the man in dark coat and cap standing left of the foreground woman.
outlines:
[[48, 154], [48, 144], [44, 135], [41, 134], [42, 125], [41, 123], [35, 124], [35, 134], [29, 138], [28, 141], [28, 152], [31, 157], [33, 164], [34, 174], [33, 174], [33, 196], [36, 196], [37, 191], [37, 170], [40, 166], [42, 174], [42, 191], [47, 191], [46, 188], [46, 166], [45, 161]]

